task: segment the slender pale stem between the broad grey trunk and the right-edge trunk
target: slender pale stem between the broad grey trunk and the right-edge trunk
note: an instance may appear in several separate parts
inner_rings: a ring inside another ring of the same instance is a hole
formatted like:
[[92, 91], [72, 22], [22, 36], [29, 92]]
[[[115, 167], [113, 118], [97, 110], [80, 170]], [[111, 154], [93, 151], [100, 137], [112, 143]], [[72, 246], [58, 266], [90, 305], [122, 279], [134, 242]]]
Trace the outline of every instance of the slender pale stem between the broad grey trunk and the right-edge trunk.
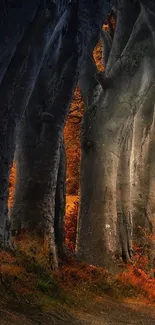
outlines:
[[119, 166], [117, 172], [117, 217], [118, 217], [118, 234], [120, 236], [120, 256], [123, 261], [130, 262], [133, 258], [132, 245], [132, 216], [130, 200], [130, 157], [132, 148], [132, 124], [126, 134], [122, 146]]

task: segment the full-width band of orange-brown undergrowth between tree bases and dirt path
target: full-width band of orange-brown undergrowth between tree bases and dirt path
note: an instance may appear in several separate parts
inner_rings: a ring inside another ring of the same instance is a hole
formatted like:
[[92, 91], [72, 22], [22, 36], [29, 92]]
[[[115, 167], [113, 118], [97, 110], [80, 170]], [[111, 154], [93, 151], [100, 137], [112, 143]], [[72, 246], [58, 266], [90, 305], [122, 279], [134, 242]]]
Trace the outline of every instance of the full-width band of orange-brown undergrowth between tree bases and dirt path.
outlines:
[[[72, 231], [70, 234], [68, 241], [75, 247]], [[54, 272], [46, 244], [26, 234], [16, 240], [15, 247], [15, 252], [0, 252], [1, 302], [17, 301], [43, 310], [60, 305], [82, 307], [105, 295], [121, 301], [132, 297], [155, 302], [155, 278], [148, 273], [148, 258], [138, 247], [134, 263], [122, 265], [116, 276], [101, 267], [78, 263], [73, 257], [61, 261], [61, 267]]]

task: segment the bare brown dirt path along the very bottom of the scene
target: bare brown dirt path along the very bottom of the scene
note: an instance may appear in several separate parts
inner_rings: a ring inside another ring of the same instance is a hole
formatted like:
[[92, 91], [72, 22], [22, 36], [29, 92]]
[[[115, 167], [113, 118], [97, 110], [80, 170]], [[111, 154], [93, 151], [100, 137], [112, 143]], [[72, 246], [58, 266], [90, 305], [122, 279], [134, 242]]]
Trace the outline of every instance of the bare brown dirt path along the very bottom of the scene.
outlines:
[[93, 303], [85, 311], [72, 313], [52, 311], [41, 313], [28, 308], [20, 313], [16, 310], [0, 309], [0, 325], [155, 325], [155, 306], [135, 303], [118, 303], [105, 299]]

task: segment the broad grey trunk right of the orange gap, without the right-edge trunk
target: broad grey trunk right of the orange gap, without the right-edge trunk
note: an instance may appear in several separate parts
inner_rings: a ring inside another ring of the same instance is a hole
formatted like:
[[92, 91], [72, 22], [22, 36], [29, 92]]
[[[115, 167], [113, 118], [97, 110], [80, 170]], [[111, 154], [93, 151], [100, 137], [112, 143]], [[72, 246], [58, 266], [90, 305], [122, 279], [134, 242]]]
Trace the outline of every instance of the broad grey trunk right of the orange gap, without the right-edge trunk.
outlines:
[[[119, 2], [124, 15], [128, 2]], [[149, 5], [145, 11], [142, 6], [130, 25], [130, 37], [116, 27], [107, 68], [97, 75], [96, 96], [82, 125], [77, 255], [113, 270], [120, 252], [124, 260], [132, 258], [131, 144], [135, 114], [146, 98], [154, 104], [154, 13]], [[120, 19], [119, 13], [117, 26]], [[123, 43], [118, 47], [119, 35]]]

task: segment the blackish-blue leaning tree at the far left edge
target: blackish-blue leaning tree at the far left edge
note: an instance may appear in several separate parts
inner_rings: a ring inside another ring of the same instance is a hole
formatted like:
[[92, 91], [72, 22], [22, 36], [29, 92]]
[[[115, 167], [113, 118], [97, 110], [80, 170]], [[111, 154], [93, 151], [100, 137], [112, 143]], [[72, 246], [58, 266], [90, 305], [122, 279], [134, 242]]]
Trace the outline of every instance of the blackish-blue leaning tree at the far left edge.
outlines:
[[[1, 5], [3, 27], [1, 29], [3, 30], [1, 59], [5, 59], [2, 64], [0, 84], [1, 245], [5, 240], [8, 178], [14, 155], [16, 130], [33, 91], [47, 48], [52, 41], [51, 31], [55, 27], [56, 20], [55, 5], [53, 9], [48, 8], [44, 1], [34, 1], [35, 6], [30, 1], [21, 6], [17, 4], [19, 8], [14, 8], [14, 5], [15, 2], [12, 2], [11, 5], [9, 2]], [[7, 11], [5, 12], [5, 10]], [[16, 23], [15, 19], [17, 19]]]

